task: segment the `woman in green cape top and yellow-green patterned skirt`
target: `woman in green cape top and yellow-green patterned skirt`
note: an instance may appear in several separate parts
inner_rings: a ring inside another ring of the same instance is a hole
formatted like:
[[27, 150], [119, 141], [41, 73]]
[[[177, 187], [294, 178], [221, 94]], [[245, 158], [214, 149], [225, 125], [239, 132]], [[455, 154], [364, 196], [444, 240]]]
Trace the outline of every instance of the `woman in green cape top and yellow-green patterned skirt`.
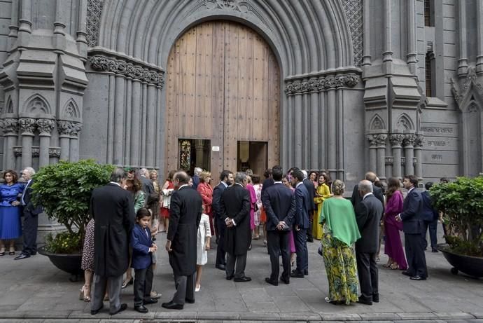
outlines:
[[323, 226], [322, 253], [329, 282], [329, 296], [325, 301], [349, 305], [358, 301], [353, 243], [360, 238], [360, 233], [351, 201], [342, 196], [344, 188], [344, 182], [339, 179], [332, 183], [334, 196], [323, 202], [319, 221]]

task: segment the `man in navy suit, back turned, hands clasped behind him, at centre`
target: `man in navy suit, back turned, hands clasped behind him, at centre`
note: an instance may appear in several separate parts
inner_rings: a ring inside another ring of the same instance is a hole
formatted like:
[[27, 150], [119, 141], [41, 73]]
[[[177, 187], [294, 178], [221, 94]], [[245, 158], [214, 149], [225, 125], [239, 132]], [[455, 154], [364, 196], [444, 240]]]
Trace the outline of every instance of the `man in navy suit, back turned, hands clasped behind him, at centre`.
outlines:
[[267, 212], [267, 247], [272, 264], [270, 277], [265, 282], [277, 286], [279, 284], [280, 262], [282, 257], [283, 272], [280, 280], [286, 284], [290, 282], [290, 248], [288, 238], [292, 234], [290, 226], [295, 214], [295, 195], [290, 188], [283, 185], [281, 179], [283, 171], [280, 166], [272, 168], [274, 184], [267, 188], [262, 195], [263, 207]]

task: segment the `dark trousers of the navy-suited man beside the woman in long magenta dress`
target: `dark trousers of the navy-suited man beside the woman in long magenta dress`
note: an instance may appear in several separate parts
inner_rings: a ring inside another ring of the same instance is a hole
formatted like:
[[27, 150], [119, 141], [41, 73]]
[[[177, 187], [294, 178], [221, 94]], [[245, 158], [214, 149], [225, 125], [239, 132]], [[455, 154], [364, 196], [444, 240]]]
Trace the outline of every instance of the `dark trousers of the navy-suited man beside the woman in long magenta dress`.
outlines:
[[407, 272], [413, 276], [428, 277], [426, 268], [426, 256], [424, 255], [424, 243], [420, 233], [404, 235], [405, 251], [407, 258]]

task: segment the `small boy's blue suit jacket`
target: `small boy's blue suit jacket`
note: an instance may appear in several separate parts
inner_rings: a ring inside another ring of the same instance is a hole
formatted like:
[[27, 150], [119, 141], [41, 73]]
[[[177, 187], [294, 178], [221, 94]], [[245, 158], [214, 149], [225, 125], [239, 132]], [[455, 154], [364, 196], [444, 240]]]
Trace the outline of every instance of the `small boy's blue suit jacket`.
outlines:
[[149, 253], [151, 245], [153, 245], [151, 232], [149, 232], [148, 228], [142, 228], [139, 224], [136, 224], [131, 232], [132, 268], [146, 269], [151, 266], [153, 262]]

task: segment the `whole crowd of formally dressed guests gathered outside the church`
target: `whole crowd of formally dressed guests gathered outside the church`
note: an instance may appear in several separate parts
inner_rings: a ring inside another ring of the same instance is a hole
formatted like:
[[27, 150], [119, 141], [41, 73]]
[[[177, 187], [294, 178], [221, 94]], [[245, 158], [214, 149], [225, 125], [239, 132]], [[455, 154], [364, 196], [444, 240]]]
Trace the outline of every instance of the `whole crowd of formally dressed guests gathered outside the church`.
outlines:
[[[6, 245], [15, 254], [13, 242], [22, 235], [20, 212], [24, 248], [15, 259], [36, 253], [36, 214], [41, 209], [30, 202], [33, 174], [27, 167], [22, 171], [26, 183], [18, 184], [13, 170], [3, 173], [0, 256], [5, 255]], [[197, 167], [193, 177], [183, 170], [170, 171], [161, 185], [155, 170], [116, 169], [109, 184], [92, 192], [80, 299], [91, 302], [92, 315], [109, 300], [113, 315], [127, 308], [120, 303], [120, 291], [133, 285], [134, 310], [148, 312], [146, 305], [157, 303], [161, 296], [153, 288], [160, 233], [166, 234], [165, 250], [176, 286], [172, 301], [162, 303], [167, 309], [180, 310], [195, 302], [212, 235], [214, 265], [235, 282], [251, 281], [245, 273], [247, 254], [252, 240], [262, 237], [271, 263], [265, 281], [275, 286], [309, 275], [307, 242], [320, 240], [318, 252], [329, 286], [325, 301], [334, 305], [379, 302], [381, 241], [388, 255], [383, 268], [402, 270], [411, 280], [427, 279], [426, 231], [429, 228], [431, 248], [437, 252], [439, 215], [428, 191], [417, 189], [413, 175], [403, 177], [407, 190], [403, 198], [399, 179], [381, 182], [367, 172], [350, 199], [344, 198], [344, 182], [332, 181], [328, 172], [296, 167], [283, 172], [274, 166], [263, 177], [261, 181], [251, 170], [235, 174], [223, 170], [213, 187], [211, 173]], [[431, 185], [426, 184], [426, 190]], [[405, 249], [400, 231], [405, 235]]]

